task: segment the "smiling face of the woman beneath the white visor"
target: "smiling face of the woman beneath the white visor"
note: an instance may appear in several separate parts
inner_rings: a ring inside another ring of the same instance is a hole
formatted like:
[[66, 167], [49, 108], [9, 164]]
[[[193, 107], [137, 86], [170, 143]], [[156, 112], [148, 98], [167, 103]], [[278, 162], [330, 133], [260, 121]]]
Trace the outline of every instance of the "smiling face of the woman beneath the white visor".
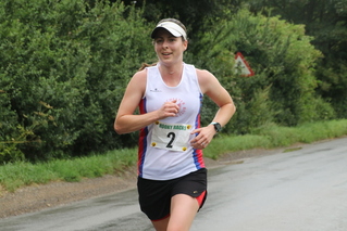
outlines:
[[161, 62], [182, 62], [187, 44], [182, 37], [174, 37], [166, 29], [158, 30], [154, 38], [154, 50]]

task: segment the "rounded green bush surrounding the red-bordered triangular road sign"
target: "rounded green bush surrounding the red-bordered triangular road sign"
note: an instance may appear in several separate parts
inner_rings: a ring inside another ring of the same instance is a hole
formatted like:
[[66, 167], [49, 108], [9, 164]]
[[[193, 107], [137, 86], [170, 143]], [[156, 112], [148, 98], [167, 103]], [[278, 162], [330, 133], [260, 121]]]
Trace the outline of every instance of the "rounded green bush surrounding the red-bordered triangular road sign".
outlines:
[[[331, 105], [314, 92], [314, 68], [322, 55], [302, 25], [240, 10], [200, 38], [190, 59], [199, 57], [199, 66], [214, 73], [233, 95], [237, 113], [230, 131], [247, 133], [265, 123], [295, 126], [334, 117]], [[256, 76], [235, 74], [236, 52], [244, 54]]]

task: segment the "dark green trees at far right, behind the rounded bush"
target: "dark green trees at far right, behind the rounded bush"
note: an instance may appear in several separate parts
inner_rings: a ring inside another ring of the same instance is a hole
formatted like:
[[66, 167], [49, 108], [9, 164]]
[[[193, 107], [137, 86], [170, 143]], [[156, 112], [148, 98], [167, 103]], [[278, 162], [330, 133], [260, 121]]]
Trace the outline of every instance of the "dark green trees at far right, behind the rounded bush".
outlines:
[[347, 116], [347, 1], [346, 0], [251, 0], [252, 12], [281, 15], [295, 24], [305, 24], [306, 33], [324, 57], [318, 65], [317, 91], [332, 103], [337, 116]]

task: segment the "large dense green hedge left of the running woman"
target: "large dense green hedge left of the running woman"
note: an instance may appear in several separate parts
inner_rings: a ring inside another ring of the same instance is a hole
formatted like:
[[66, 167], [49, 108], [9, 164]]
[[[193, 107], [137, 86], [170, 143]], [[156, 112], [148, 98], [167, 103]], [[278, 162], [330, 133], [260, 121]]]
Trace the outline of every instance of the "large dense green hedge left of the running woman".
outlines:
[[[1, 156], [49, 159], [133, 144], [115, 134], [113, 120], [129, 77], [153, 55], [141, 13], [121, 1], [82, 0], [5, 0], [0, 10], [9, 121], [1, 141], [13, 141], [1, 143]], [[30, 131], [25, 142], [17, 127]]]

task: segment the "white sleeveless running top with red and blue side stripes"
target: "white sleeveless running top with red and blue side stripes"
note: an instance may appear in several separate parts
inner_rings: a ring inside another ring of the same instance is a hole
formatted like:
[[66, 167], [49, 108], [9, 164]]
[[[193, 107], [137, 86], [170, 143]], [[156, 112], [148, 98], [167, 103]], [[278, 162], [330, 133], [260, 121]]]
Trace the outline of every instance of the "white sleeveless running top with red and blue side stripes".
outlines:
[[[159, 64], [158, 64], [159, 65]], [[151, 180], [169, 180], [205, 168], [202, 151], [190, 146], [190, 134], [200, 127], [202, 93], [196, 68], [184, 64], [181, 82], [169, 87], [157, 66], [147, 67], [147, 85], [139, 103], [140, 113], [159, 110], [164, 102], [176, 100], [175, 117], [158, 120], [140, 130], [138, 176]]]

